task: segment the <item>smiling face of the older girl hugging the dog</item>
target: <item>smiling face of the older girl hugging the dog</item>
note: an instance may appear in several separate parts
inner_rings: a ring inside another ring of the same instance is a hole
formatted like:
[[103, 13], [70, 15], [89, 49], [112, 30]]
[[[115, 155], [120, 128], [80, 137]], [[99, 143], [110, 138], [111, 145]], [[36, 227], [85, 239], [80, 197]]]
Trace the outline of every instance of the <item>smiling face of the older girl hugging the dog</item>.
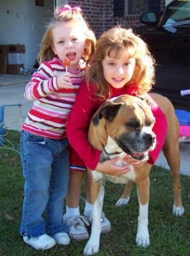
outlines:
[[115, 88], [122, 88], [131, 80], [134, 67], [135, 58], [129, 58], [127, 48], [123, 50], [119, 58], [115, 59], [115, 51], [113, 51], [110, 57], [106, 54], [102, 61], [104, 77], [107, 83]]

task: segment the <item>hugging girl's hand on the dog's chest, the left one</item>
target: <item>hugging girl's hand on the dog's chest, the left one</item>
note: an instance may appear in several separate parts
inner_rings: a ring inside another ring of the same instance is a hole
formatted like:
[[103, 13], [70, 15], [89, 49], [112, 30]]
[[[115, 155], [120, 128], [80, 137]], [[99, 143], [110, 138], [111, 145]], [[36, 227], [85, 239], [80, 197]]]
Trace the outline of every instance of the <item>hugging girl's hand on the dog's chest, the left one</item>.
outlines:
[[115, 157], [111, 160], [106, 160], [103, 163], [98, 163], [97, 167], [95, 168], [95, 170], [97, 172], [101, 172], [104, 174], [109, 174], [109, 175], [123, 175], [127, 172], [130, 171], [130, 168], [128, 166], [128, 164], [124, 165], [124, 166], [116, 166], [115, 162], [118, 161], [120, 159], [120, 157]]

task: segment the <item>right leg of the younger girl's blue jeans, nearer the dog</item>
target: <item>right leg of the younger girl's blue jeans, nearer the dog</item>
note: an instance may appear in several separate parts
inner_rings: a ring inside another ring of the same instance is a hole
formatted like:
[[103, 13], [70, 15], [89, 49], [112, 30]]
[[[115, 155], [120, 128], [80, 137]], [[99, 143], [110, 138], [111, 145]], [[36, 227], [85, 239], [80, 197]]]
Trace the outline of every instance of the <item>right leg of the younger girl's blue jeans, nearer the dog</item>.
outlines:
[[59, 232], [68, 232], [67, 225], [63, 223], [63, 206], [69, 179], [68, 141], [67, 139], [57, 140], [57, 143], [59, 147], [56, 145], [49, 187], [49, 202], [45, 210], [47, 233], [50, 236]]

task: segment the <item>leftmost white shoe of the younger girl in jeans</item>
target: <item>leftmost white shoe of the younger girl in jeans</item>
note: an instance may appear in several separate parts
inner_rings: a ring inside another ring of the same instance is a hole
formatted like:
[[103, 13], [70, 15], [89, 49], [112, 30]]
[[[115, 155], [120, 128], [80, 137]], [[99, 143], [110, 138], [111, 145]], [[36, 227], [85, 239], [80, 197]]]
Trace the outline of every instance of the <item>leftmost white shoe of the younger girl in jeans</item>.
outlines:
[[31, 237], [31, 239], [28, 239], [28, 236], [23, 236], [23, 241], [36, 250], [47, 250], [56, 244], [55, 239], [46, 234], [38, 237]]

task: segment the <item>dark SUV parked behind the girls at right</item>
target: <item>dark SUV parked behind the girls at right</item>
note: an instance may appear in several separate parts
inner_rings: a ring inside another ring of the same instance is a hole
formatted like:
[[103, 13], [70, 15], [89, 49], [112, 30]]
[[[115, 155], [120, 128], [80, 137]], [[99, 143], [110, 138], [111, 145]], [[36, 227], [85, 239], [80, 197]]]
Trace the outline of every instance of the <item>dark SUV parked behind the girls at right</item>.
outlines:
[[180, 96], [190, 89], [190, 0], [171, 1], [159, 15], [144, 12], [140, 21], [145, 25], [136, 33], [157, 63], [154, 92], [190, 108], [190, 95]]

